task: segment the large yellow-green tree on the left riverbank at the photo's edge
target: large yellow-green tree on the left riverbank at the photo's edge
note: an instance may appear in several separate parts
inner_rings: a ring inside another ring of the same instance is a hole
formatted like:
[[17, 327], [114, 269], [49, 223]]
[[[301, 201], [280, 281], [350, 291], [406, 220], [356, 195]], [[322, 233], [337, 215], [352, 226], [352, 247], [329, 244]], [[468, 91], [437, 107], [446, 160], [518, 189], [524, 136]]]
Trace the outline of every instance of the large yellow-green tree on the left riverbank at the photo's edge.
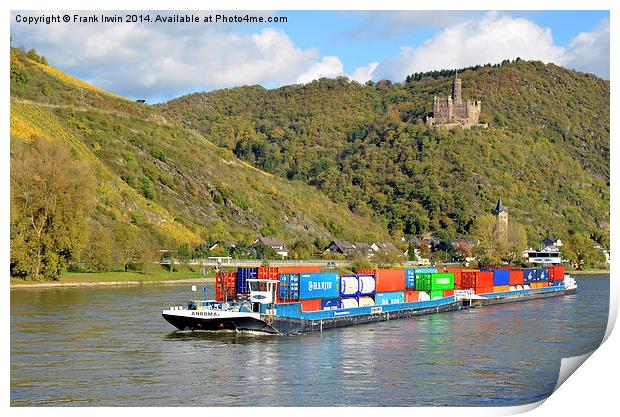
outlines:
[[11, 156], [12, 273], [58, 279], [78, 259], [94, 208], [95, 179], [57, 140], [35, 139]]

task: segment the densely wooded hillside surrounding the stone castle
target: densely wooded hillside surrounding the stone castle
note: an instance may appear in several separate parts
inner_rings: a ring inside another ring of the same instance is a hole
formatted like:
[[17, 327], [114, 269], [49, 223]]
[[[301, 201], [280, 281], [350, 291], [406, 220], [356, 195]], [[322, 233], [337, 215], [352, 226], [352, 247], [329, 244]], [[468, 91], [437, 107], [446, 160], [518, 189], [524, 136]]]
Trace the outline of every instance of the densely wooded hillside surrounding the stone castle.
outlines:
[[608, 239], [609, 82], [540, 62], [459, 70], [488, 129], [423, 125], [453, 72], [241, 87], [158, 106], [239, 158], [372, 215], [393, 235], [466, 234], [502, 197], [530, 242]]

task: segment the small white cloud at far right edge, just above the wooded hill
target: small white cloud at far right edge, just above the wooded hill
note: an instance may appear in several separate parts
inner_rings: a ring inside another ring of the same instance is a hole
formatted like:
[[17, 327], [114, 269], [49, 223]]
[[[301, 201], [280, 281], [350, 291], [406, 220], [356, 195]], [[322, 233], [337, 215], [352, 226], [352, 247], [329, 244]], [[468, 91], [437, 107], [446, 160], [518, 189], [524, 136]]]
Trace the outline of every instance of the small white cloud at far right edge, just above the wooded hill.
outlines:
[[581, 32], [573, 38], [565, 65], [609, 79], [609, 19], [603, 19], [592, 32]]

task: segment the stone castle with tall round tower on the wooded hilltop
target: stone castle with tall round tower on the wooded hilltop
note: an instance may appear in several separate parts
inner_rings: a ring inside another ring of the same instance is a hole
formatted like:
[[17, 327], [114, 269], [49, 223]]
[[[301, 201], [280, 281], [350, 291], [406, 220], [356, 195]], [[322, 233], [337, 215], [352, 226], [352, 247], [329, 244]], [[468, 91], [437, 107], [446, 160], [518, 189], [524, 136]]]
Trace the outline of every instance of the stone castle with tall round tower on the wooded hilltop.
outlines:
[[461, 98], [461, 79], [455, 75], [452, 81], [452, 96], [435, 96], [433, 98], [433, 116], [426, 118], [426, 126], [438, 129], [487, 127], [487, 124], [478, 123], [481, 106], [480, 100], [463, 100]]

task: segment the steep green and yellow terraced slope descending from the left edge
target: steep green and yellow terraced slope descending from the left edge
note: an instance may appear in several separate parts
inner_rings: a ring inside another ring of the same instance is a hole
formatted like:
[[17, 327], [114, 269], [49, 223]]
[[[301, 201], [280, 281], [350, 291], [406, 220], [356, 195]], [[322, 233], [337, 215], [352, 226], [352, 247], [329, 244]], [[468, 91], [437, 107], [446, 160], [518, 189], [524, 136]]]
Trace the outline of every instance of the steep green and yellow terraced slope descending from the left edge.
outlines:
[[12, 157], [37, 138], [64, 144], [95, 173], [93, 244], [109, 230], [118, 235], [111, 237], [113, 246], [131, 232], [135, 242], [151, 239], [157, 249], [251, 242], [259, 235], [310, 245], [335, 237], [390, 238], [369, 214], [353, 214], [302, 181], [262, 172], [158, 109], [12, 48]]

